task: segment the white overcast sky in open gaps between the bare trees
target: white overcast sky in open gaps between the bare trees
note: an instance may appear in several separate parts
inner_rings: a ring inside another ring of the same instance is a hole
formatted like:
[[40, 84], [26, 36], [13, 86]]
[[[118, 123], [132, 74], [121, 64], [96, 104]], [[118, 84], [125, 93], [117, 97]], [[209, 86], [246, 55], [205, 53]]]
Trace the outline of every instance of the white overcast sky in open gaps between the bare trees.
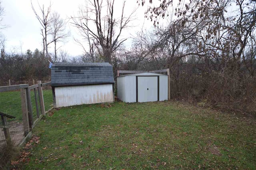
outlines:
[[[38, 0], [39, 4], [50, 4], [50, 0]], [[37, 0], [32, 0], [35, 8], [38, 7]], [[115, 8], [120, 11], [122, 8], [123, 0], [115, 1]], [[78, 12], [78, 6], [85, 4], [85, 0], [52, 0], [52, 11], [56, 11], [62, 18], [70, 18], [75, 16]], [[42, 36], [40, 35], [40, 23], [36, 19], [36, 16], [31, 8], [30, 0], [2, 0], [2, 6], [5, 10], [5, 16], [3, 24], [9, 27], [2, 30], [2, 34], [7, 39], [6, 51], [20, 52], [21, 46], [22, 51], [25, 52], [27, 49], [34, 51], [38, 48], [42, 50]], [[130, 14], [135, 8], [138, 8], [136, 0], [127, 0], [125, 6], [125, 14]], [[142, 29], [152, 28], [152, 23], [144, 19], [144, 12], [146, 7], [138, 8], [134, 14], [136, 20], [130, 25], [132, 28], [124, 30], [122, 32], [122, 38], [129, 38], [135, 35], [136, 32]], [[62, 43], [61, 48], [68, 51], [71, 56], [82, 54], [82, 48], [74, 42], [73, 38], [79, 38], [76, 28], [72, 24], [67, 25], [67, 29], [70, 30], [71, 36], [68, 38], [66, 43]], [[125, 42], [125, 45], [131, 44], [131, 38]], [[59, 44], [60, 45], [60, 44]], [[51, 47], [50, 52], [53, 52]]]

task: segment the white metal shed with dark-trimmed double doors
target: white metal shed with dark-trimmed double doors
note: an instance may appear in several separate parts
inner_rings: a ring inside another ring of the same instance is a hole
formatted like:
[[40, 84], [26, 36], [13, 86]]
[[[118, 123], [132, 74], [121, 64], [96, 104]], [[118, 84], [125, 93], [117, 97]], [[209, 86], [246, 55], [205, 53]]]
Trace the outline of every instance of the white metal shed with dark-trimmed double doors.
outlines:
[[168, 100], [168, 75], [135, 73], [117, 77], [118, 99], [124, 102]]

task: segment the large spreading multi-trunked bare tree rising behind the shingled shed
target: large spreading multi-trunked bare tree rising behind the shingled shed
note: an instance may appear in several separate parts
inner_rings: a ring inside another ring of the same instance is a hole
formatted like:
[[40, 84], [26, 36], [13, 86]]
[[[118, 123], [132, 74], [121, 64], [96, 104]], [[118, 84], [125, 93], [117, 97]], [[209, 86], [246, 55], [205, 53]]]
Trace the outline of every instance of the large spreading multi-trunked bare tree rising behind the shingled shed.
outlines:
[[[122, 30], [128, 27], [135, 11], [125, 17], [124, 2], [120, 18], [114, 18], [114, 0], [106, 0], [105, 2], [106, 5], [103, 4], [103, 0], [90, 0], [89, 3], [92, 8], [87, 7], [85, 11], [80, 8], [79, 15], [72, 17], [72, 24], [80, 32], [85, 33], [87, 40], [92, 40], [89, 43], [90, 48], [95, 44], [104, 61], [111, 62], [112, 53], [126, 40], [121, 39], [120, 35]], [[103, 10], [104, 8], [105, 10]]]

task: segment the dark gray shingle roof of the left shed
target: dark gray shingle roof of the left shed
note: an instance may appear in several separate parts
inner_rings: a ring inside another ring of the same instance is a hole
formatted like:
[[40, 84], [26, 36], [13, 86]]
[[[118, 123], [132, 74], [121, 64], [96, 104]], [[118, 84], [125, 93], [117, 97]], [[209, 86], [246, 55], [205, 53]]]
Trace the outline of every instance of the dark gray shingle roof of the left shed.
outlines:
[[54, 63], [52, 86], [114, 83], [110, 63]]

